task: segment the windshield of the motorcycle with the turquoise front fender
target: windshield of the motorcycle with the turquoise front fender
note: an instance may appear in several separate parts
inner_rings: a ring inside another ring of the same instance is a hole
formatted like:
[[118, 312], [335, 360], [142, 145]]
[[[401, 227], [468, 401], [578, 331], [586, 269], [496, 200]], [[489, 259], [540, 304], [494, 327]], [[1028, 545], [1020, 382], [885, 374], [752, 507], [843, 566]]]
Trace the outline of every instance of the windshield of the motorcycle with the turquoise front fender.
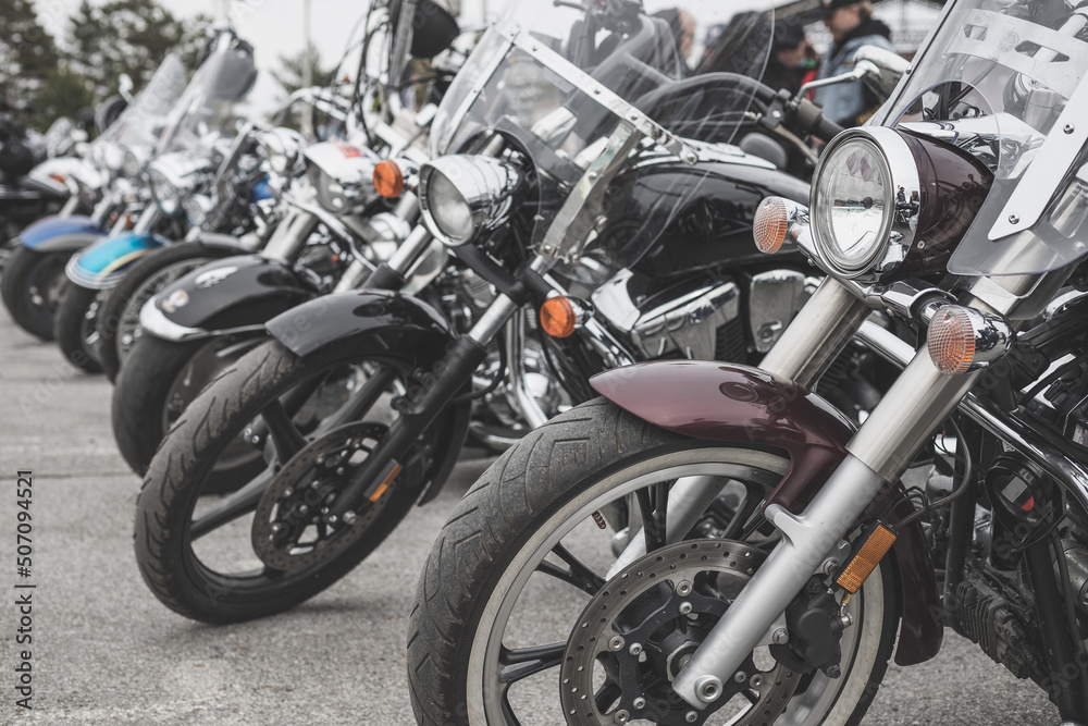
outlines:
[[[223, 44], [225, 45], [225, 44]], [[235, 135], [237, 103], [251, 85], [252, 62], [236, 49], [221, 46], [193, 75], [166, 120], [156, 155], [191, 151], [201, 143]]]

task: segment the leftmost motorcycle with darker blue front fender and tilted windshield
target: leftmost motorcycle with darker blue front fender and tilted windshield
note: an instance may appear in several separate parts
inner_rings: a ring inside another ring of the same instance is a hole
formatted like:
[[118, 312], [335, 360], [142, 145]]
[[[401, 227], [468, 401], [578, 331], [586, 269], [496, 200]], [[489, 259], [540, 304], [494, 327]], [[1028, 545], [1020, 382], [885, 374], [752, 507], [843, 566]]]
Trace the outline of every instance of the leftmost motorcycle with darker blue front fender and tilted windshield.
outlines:
[[147, 87], [91, 143], [87, 157], [73, 170], [73, 197], [81, 204], [94, 202], [91, 213], [41, 219], [20, 233], [0, 291], [12, 319], [32, 335], [53, 340], [53, 318], [66, 282], [64, 267], [72, 255], [129, 229], [133, 216], [144, 208], [134, 184], [143, 165], [137, 155], [153, 146], [184, 89], [184, 64], [176, 56], [166, 56]]

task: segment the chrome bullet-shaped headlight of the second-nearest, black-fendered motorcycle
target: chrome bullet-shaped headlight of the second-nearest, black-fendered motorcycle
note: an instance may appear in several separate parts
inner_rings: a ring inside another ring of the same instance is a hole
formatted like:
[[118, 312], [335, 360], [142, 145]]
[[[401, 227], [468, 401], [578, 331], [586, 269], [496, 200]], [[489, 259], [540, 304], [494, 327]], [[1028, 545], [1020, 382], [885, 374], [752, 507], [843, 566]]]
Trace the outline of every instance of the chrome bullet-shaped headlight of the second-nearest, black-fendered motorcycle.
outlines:
[[515, 208], [521, 171], [491, 157], [455, 155], [419, 171], [423, 222], [443, 244], [457, 247], [505, 224]]

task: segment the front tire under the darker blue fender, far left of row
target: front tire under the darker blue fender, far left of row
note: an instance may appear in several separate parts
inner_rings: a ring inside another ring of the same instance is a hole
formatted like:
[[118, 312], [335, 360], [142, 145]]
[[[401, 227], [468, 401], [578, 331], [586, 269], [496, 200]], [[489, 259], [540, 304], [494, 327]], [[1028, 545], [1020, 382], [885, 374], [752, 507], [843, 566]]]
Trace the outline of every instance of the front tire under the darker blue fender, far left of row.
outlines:
[[64, 266], [73, 251], [38, 253], [18, 245], [0, 278], [0, 294], [12, 319], [42, 341], [53, 340], [53, 316], [67, 284]]

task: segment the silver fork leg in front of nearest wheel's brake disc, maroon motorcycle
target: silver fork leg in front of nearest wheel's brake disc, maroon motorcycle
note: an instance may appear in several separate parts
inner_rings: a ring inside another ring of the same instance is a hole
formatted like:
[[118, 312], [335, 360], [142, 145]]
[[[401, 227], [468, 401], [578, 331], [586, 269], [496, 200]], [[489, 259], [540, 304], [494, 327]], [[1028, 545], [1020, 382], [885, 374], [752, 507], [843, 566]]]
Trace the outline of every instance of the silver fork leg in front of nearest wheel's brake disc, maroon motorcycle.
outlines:
[[[814, 336], [819, 334], [813, 332]], [[786, 341], [783, 335], [779, 345]], [[782, 532], [782, 542], [673, 681], [673, 689], [685, 701], [702, 709], [721, 693], [721, 684], [732, 677], [883, 483], [902, 473], [915, 450], [955, 408], [979, 374], [945, 376], [923, 347], [851, 440], [846, 458], [804, 513], [793, 515], [779, 505], [767, 507], [767, 518]]]

